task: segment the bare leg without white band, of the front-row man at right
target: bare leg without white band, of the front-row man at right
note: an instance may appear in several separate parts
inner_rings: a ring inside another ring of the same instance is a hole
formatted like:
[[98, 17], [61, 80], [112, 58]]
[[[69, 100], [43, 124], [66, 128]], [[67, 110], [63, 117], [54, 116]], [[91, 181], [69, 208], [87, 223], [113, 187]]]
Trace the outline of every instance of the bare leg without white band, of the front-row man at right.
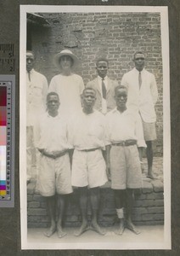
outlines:
[[136, 235], [140, 234], [140, 231], [132, 223], [132, 207], [133, 207], [133, 189], [127, 189], [127, 229], [132, 230]]

